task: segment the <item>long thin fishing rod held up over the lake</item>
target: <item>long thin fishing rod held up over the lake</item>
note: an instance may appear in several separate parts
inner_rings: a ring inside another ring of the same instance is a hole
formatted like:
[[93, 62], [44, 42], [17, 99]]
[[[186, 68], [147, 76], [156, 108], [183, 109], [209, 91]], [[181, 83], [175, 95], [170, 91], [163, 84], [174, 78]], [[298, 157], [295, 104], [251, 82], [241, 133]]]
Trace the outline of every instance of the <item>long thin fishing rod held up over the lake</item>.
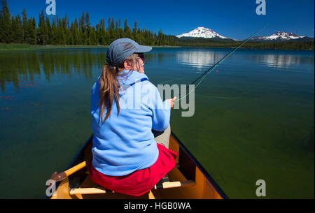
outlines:
[[[267, 25], [265, 26], [267, 27]], [[265, 29], [265, 27], [262, 27], [262, 29]], [[180, 101], [182, 98], [185, 98], [186, 96], [188, 96], [191, 92], [193, 92], [199, 85], [200, 83], [204, 80], [204, 78], [206, 78], [206, 76], [211, 73], [212, 71], [214, 71], [214, 68], [216, 68], [216, 66], [218, 66], [218, 64], [220, 64], [222, 61], [224, 61], [225, 59], [227, 59], [230, 54], [232, 54], [233, 52], [235, 52], [237, 49], [239, 49], [239, 47], [241, 47], [242, 45], [244, 45], [244, 43], [246, 43], [249, 39], [253, 38], [253, 36], [255, 36], [255, 34], [258, 34], [260, 31], [262, 31], [262, 29], [259, 29], [258, 31], [256, 31], [253, 35], [249, 36], [243, 43], [241, 43], [239, 46], [237, 46], [234, 50], [232, 50], [231, 52], [229, 52], [228, 54], [225, 55], [225, 57], [223, 57], [222, 59], [220, 59], [218, 62], [216, 62], [216, 64], [214, 64], [213, 66], [211, 66], [211, 68], [209, 68], [207, 71], [205, 71], [204, 73], [202, 73], [202, 75], [200, 75], [200, 77], [198, 77], [196, 80], [194, 80], [193, 82], [190, 83], [190, 85], [195, 84], [195, 82], [197, 82], [199, 80], [199, 82], [197, 83], [197, 85], [195, 85], [195, 88], [192, 89], [192, 91], [190, 91], [188, 94], [186, 94], [185, 96], [179, 98], [176, 101]], [[186, 89], [188, 89], [189, 85], [186, 86]]]

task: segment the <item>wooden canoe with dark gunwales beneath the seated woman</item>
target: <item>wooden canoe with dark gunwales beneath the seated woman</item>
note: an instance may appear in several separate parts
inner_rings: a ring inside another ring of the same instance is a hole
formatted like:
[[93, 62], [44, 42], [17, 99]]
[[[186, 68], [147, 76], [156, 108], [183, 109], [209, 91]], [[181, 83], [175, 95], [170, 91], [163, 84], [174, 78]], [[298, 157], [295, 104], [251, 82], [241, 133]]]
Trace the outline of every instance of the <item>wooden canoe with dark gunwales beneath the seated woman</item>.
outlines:
[[[176, 166], [143, 196], [128, 196], [109, 189], [104, 189], [92, 182], [86, 163], [92, 158], [93, 135], [83, 145], [80, 152], [69, 164], [65, 172], [59, 173], [61, 181], [54, 184], [49, 199], [228, 199], [209, 173], [195, 159], [193, 154], [176, 138], [172, 132], [169, 149], [178, 153]], [[56, 174], [55, 174], [56, 175]], [[52, 179], [52, 177], [50, 178]], [[52, 184], [53, 185], [53, 184]], [[52, 186], [50, 185], [50, 186]], [[52, 188], [52, 187], [51, 187]], [[53, 193], [55, 192], [55, 193]]]

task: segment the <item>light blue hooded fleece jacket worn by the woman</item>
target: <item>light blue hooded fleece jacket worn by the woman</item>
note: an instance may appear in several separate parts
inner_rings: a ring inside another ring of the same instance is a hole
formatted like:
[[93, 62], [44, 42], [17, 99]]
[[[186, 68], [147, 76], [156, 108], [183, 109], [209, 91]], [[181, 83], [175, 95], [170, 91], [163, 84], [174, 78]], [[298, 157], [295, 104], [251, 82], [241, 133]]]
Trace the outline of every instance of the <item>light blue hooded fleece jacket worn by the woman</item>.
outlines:
[[162, 102], [158, 88], [144, 73], [127, 70], [123, 73], [127, 75], [118, 77], [119, 115], [113, 101], [111, 115], [104, 123], [99, 122], [99, 78], [91, 94], [92, 165], [111, 176], [127, 175], [155, 163], [159, 151], [152, 129], [164, 131], [169, 126], [171, 113], [170, 104]]

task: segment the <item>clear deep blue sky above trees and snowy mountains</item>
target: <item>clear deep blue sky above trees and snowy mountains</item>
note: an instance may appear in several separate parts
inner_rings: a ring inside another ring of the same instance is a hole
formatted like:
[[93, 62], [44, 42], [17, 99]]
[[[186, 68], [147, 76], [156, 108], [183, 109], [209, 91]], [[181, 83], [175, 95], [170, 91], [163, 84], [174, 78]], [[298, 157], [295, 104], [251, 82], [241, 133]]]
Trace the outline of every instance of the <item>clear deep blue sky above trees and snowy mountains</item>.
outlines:
[[[27, 10], [28, 17], [38, 16], [48, 6], [46, 0], [7, 0], [14, 15]], [[159, 0], [159, 1], [107, 1], [107, 0], [55, 0], [57, 15], [67, 14], [70, 20], [83, 11], [90, 14], [92, 25], [109, 17], [134, 27], [137, 20], [142, 29], [164, 34], [179, 35], [197, 27], [213, 29], [218, 34], [245, 39], [264, 27], [259, 35], [269, 36], [276, 31], [289, 31], [314, 37], [314, 0], [265, 0], [266, 15], [256, 15], [256, 0]], [[50, 15], [52, 16], [52, 15]]]

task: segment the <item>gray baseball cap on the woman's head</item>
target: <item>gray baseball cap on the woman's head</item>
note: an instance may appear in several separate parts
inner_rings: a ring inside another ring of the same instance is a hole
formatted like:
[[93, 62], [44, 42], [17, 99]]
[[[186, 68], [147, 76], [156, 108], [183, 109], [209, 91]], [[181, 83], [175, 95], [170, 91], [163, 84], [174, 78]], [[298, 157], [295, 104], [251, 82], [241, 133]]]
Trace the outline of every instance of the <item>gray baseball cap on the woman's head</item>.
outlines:
[[130, 38], [119, 38], [109, 45], [106, 61], [113, 66], [118, 66], [118, 64], [134, 53], [149, 52], [151, 50], [152, 47], [139, 45]]

